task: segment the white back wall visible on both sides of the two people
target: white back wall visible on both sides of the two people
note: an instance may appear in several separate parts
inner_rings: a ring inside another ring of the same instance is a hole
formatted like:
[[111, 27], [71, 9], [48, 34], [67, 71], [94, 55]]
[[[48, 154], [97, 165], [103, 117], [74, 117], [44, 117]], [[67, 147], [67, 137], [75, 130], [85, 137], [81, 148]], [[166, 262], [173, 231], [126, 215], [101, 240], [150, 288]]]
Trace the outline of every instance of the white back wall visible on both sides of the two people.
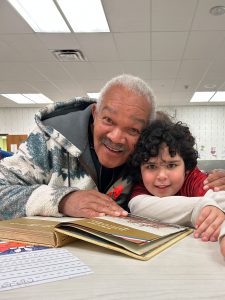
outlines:
[[[196, 138], [200, 158], [225, 159], [225, 106], [158, 107], [185, 122]], [[0, 133], [29, 134], [37, 108], [1, 108]], [[216, 156], [211, 148], [216, 148]], [[204, 151], [201, 149], [204, 148]]]

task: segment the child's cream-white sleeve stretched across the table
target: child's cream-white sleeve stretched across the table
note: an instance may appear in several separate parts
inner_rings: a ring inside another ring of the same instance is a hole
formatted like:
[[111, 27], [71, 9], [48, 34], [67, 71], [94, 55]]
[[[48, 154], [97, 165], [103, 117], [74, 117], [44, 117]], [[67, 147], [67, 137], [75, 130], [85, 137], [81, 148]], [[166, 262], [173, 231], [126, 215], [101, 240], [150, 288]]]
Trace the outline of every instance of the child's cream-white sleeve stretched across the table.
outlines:
[[225, 192], [209, 190], [202, 197], [170, 196], [159, 198], [139, 195], [129, 202], [129, 208], [133, 214], [191, 227], [195, 227], [201, 209], [208, 205], [224, 210]]

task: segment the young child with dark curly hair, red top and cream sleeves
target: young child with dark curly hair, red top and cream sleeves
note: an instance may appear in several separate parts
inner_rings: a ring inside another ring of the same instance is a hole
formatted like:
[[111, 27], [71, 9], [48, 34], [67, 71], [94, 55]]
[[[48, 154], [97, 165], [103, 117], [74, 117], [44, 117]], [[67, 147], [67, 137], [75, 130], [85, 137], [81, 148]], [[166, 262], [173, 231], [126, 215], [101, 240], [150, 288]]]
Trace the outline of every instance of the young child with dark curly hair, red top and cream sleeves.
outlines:
[[136, 184], [129, 208], [133, 214], [193, 226], [196, 238], [216, 241], [225, 220], [225, 192], [203, 189], [207, 175], [196, 167], [194, 146], [181, 122], [156, 120], [146, 128], [131, 158]]

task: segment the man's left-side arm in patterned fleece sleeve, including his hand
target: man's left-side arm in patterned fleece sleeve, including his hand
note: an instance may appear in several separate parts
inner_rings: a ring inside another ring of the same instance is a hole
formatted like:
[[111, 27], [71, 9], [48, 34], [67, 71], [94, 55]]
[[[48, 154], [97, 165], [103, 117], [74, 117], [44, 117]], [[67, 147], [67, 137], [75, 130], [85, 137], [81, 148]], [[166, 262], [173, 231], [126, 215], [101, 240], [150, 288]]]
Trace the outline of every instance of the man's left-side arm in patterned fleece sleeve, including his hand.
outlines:
[[17, 154], [1, 161], [0, 219], [127, 215], [115, 201], [96, 190], [65, 186], [66, 159], [57, 143], [36, 130]]

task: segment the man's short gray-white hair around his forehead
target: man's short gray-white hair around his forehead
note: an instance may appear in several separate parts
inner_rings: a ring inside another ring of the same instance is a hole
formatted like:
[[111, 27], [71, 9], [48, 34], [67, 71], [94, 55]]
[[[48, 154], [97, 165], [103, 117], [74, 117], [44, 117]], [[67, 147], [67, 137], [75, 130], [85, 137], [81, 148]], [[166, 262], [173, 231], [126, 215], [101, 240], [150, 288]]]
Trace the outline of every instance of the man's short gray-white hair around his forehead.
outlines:
[[155, 119], [155, 96], [153, 91], [148, 86], [148, 84], [139, 77], [130, 75], [130, 74], [122, 74], [116, 76], [109, 80], [105, 86], [100, 91], [99, 99], [97, 102], [97, 110], [104, 99], [104, 96], [108, 90], [110, 90], [114, 86], [123, 86], [127, 88], [129, 91], [134, 91], [135, 93], [143, 96], [148, 101], [151, 106], [150, 115], [149, 115], [149, 123], [151, 123]]

